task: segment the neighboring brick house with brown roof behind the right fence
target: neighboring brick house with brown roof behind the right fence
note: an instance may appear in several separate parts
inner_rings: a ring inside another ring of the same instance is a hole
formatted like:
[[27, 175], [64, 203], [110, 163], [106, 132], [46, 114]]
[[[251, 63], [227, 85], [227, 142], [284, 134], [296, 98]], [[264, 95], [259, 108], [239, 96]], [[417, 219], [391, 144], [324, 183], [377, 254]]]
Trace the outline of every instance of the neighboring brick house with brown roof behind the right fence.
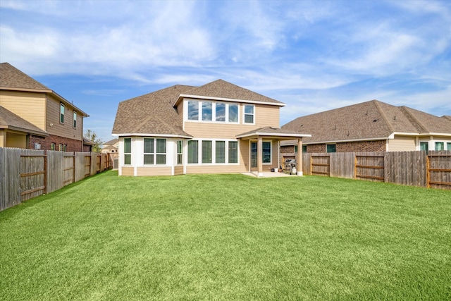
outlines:
[[[310, 133], [302, 149], [309, 153], [451, 150], [450, 116], [377, 100], [299, 117], [282, 128]], [[295, 144], [282, 142], [280, 152], [297, 152]]]

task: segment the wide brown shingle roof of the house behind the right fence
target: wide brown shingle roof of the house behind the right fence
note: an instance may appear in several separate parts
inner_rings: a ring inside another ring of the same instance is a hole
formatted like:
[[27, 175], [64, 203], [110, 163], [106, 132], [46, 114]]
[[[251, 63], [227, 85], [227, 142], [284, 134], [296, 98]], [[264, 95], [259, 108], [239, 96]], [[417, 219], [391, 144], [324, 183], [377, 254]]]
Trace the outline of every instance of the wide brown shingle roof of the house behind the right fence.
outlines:
[[[447, 118], [378, 100], [299, 117], [282, 128], [310, 133], [311, 137], [305, 138], [304, 143], [380, 140], [395, 133], [451, 135], [451, 122]], [[283, 142], [284, 145], [292, 143]]]

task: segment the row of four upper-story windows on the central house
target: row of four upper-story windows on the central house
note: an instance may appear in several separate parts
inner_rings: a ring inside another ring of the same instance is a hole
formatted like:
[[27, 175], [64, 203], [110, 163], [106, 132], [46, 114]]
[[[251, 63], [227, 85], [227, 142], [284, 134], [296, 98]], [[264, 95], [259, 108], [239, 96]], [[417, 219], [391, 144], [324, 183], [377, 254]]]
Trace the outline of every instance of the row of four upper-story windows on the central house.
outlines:
[[238, 104], [188, 100], [186, 118], [188, 121], [238, 123]]

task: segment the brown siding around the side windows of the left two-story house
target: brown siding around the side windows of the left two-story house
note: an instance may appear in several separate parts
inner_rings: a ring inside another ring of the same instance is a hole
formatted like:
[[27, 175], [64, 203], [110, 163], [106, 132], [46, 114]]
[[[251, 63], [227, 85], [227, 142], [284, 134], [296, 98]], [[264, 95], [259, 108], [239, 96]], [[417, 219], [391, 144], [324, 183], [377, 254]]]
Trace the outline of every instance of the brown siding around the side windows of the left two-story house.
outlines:
[[[58, 99], [49, 97], [47, 101], [47, 132], [51, 135], [82, 140], [82, 116], [77, 115], [77, 128], [73, 128], [73, 108], [64, 106], [64, 123], [59, 122], [60, 103]], [[53, 124], [53, 126], [50, 126]]]

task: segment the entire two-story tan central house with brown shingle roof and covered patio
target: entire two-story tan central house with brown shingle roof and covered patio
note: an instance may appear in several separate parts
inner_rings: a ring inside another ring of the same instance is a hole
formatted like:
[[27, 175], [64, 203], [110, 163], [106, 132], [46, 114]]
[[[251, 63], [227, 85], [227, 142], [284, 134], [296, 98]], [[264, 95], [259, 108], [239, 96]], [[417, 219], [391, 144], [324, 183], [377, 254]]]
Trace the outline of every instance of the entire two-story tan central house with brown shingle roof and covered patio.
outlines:
[[261, 176], [277, 170], [280, 141], [296, 140], [302, 147], [302, 138], [309, 137], [279, 128], [281, 106], [224, 80], [201, 87], [175, 85], [121, 102], [113, 125], [119, 175]]

